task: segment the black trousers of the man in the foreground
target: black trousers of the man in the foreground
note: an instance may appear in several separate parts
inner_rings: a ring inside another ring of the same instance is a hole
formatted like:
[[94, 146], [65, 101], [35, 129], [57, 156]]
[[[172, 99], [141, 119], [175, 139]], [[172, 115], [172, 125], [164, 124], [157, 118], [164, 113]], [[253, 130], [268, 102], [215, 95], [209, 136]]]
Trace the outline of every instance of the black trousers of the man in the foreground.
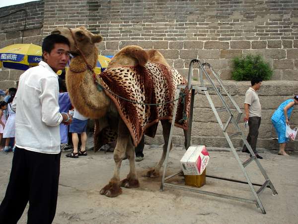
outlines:
[[0, 224], [16, 224], [29, 201], [28, 224], [54, 220], [60, 175], [59, 154], [16, 148], [6, 194], [0, 205]]

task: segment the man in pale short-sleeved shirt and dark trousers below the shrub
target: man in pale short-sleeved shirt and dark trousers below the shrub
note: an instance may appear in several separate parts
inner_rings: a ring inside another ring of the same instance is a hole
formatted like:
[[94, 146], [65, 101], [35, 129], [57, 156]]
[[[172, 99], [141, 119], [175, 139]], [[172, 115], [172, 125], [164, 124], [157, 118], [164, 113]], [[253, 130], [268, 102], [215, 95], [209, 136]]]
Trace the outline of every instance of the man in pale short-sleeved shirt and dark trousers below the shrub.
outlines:
[[[249, 132], [246, 140], [250, 144], [252, 150], [258, 159], [263, 159], [256, 150], [257, 140], [259, 135], [259, 127], [261, 124], [261, 104], [257, 91], [262, 86], [262, 79], [255, 77], [251, 80], [251, 87], [245, 93], [244, 101], [244, 111], [245, 117], [244, 121], [248, 121]], [[249, 153], [246, 145], [243, 146], [242, 152]]]

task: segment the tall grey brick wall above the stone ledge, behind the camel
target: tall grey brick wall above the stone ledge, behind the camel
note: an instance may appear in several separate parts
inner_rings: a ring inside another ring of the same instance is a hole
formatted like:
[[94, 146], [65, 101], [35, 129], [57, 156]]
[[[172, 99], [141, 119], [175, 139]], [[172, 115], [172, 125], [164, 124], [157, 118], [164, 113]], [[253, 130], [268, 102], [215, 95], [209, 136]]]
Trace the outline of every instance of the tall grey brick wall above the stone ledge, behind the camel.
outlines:
[[273, 80], [298, 80], [297, 0], [45, 1], [45, 34], [80, 25], [105, 37], [101, 54], [131, 44], [155, 48], [185, 76], [198, 57], [230, 79], [232, 57], [260, 54]]

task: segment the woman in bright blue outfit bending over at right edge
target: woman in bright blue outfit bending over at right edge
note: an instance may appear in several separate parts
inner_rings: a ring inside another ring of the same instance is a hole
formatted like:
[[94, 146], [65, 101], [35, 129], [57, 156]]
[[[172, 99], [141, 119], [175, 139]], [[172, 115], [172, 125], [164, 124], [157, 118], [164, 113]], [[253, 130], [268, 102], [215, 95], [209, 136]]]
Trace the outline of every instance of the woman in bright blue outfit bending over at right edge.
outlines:
[[280, 145], [279, 155], [288, 155], [285, 152], [286, 143], [288, 141], [288, 138], [286, 137], [286, 124], [290, 123], [289, 119], [291, 113], [294, 109], [294, 105], [297, 104], [298, 96], [295, 96], [294, 99], [286, 100], [278, 107], [271, 117], [271, 121], [278, 134], [278, 143]]

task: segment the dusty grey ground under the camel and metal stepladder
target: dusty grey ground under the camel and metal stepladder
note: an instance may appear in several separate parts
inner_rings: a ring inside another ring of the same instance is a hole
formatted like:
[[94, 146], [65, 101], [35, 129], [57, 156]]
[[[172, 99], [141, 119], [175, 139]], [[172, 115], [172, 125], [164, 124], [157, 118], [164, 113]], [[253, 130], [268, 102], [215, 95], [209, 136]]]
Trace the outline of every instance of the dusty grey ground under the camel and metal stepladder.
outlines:
[[[160, 158], [161, 146], [146, 145], [145, 159], [136, 162], [141, 187], [125, 189], [117, 198], [99, 194], [100, 189], [112, 176], [114, 162], [111, 152], [88, 151], [88, 156], [78, 159], [67, 158], [62, 152], [61, 175], [55, 224], [297, 224], [298, 220], [298, 155], [279, 156], [276, 152], [265, 150], [261, 164], [267, 171], [277, 196], [266, 189], [261, 200], [266, 215], [254, 204], [196, 194], [165, 187], [160, 192], [161, 177], [145, 177], [146, 170], [153, 167]], [[168, 163], [168, 174], [179, 171], [179, 160], [184, 151], [181, 146], [174, 147]], [[240, 168], [231, 152], [209, 151], [211, 160], [207, 167], [208, 175], [244, 180]], [[276, 154], [274, 154], [276, 153]], [[248, 154], [239, 152], [245, 161]], [[8, 183], [12, 152], [0, 153], [0, 200], [4, 197]], [[121, 178], [129, 170], [128, 160], [123, 161]], [[248, 166], [252, 182], [262, 184], [264, 178], [255, 163]], [[162, 172], [160, 173], [162, 174]], [[207, 178], [204, 191], [253, 199], [248, 185]], [[171, 183], [184, 186], [183, 177], [174, 178]], [[19, 221], [25, 224], [27, 208]]]

